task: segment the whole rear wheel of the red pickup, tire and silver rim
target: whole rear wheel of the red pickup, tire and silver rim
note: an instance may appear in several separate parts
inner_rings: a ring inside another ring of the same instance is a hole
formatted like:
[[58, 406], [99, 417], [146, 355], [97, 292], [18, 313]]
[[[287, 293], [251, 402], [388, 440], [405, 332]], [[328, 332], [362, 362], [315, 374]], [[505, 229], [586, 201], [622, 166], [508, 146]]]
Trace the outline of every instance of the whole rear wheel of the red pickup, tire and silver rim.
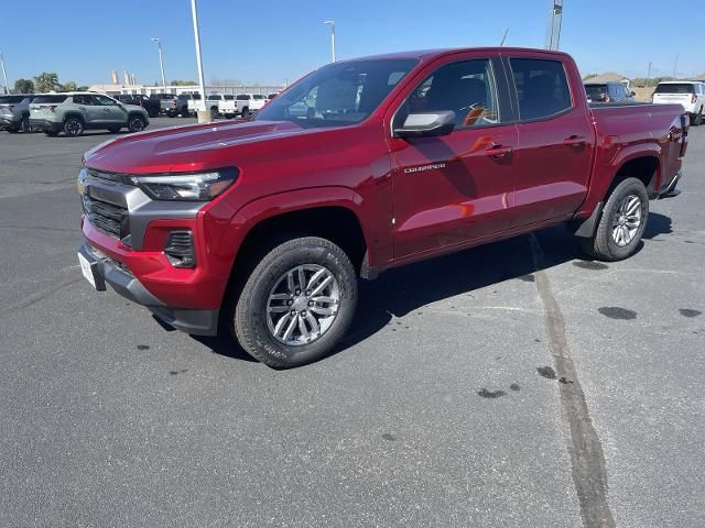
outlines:
[[649, 218], [649, 195], [637, 178], [621, 182], [609, 196], [599, 224], [583, 248], [590, 256], [603, 261], [621, 261], [639, 246]]

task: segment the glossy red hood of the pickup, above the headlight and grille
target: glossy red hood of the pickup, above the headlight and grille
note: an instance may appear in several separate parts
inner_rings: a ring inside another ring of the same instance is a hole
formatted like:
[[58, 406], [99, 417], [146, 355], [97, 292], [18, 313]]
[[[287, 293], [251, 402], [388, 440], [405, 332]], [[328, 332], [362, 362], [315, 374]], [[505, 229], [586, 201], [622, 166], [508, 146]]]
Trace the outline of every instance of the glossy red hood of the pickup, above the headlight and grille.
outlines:
[[289, 121], [216, 122], [124, 135], [84, 155], [86, 165], [111, 173], [154, 174], [236, 165], [241, 145], [319, 130]]

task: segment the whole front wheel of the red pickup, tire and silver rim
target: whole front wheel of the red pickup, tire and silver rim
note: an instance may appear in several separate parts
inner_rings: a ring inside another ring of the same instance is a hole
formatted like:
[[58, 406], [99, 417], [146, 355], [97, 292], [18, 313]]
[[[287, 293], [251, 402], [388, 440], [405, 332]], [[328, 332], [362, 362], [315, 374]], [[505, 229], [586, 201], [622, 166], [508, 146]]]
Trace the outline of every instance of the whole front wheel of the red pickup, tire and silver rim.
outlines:
[[317, 237], [274, 245], [252, 270], [237, 300], [234, 334], [278, 369], [311, 363], [345, 334], [357, 305], [355, 270], [345, 252]]

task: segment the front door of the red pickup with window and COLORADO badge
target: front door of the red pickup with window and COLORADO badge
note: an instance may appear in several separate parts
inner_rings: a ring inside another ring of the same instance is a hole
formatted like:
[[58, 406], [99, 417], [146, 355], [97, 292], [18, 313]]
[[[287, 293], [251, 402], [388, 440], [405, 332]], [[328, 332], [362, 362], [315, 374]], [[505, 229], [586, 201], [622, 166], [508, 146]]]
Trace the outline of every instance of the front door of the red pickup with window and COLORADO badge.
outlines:
[[498, 90], [497, 66], [478, 53], [446, 58], [397, 110], [392, 128], [412, 113], [452, 110], [455, 129], [444, 136], [390, 139], [395, 261], [509, 229], [517, 130], [503, 124], [509, 109], [498, 97], [506, 90]]

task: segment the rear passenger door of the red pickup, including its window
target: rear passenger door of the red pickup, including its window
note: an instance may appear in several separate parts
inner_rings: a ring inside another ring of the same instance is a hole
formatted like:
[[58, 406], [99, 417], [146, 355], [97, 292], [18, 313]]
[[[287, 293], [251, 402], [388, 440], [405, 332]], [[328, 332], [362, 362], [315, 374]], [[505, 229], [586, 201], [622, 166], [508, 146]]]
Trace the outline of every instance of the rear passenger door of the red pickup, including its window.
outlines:
[[505, 64], [518, 109], [512, 224], [565, 218], [587, 195], [595, 146], [577, 67], [531, 52]]

